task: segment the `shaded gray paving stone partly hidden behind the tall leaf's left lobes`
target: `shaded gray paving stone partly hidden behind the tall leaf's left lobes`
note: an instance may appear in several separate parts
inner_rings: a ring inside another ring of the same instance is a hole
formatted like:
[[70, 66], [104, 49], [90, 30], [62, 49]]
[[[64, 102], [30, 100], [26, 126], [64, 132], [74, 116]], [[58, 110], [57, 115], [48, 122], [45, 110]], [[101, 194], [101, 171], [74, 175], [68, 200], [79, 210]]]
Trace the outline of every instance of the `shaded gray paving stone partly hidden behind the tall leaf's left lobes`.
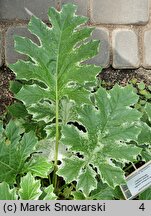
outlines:
[[27, 56], [20, 54], [15, 51], [14, 48], [14, 35], [20, 35], [23, 37], [28, 37], [34, 42], [38, 43], [36, 36], [32, 35], [26, 26], [16, 26], [9, 27], [6, 32], [6, 42], [5, 42], [5, 62], [6, 65], [10, 63], [15, 63], [18, 59], [27, 59]]

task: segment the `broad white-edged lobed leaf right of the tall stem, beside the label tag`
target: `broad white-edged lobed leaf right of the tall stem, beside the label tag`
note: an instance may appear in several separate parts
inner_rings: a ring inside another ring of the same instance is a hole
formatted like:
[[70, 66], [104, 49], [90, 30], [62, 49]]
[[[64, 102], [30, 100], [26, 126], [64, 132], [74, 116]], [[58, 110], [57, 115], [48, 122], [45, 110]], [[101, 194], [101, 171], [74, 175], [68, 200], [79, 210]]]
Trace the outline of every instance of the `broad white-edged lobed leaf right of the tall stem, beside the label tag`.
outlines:
[[[137, 126], [141, 114], [131, 108], [138, 100], [133, 88], [116, 85], [110, 91], [100, 88], [95, 95], [96, 107], [84, 105], [77, 108], [77, 121], [86, 132], [72, 125], [63, 127], [61, 141], [75, 156], [64, 159], [57, 172], [67, 182], [76, 180], [77, 188], [85, 196], [96, 187], [97, 173], [112, 188], [124, 183], [124, 172], [114, 161], [124, 165], [136, 160], [141, 152], [141, 148], [128, 144], [130, 141], [137, 142], [141, 131]], [[81, 157], [80, 166], [77, 154]], [[91, 182], [89, 188], [85, 182]]]

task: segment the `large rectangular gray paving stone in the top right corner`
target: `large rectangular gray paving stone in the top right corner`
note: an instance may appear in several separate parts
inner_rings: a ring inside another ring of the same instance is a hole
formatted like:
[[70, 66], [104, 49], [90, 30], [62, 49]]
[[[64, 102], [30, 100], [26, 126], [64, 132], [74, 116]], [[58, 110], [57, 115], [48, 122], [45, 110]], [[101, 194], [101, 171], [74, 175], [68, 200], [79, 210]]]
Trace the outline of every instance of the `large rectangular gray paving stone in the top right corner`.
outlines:
[[93, 0], [92, 21], [104, 24], [145, 24], [148, 0]]

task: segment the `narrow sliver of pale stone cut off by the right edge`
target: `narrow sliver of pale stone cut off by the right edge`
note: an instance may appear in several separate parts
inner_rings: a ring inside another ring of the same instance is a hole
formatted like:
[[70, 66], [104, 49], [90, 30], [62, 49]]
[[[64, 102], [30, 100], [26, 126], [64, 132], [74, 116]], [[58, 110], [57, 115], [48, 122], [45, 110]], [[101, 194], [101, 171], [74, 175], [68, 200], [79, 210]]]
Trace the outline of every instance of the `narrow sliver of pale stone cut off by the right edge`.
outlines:
[[143, 37], [143, 67], [151, 68], [151, 30], [146, 30]]

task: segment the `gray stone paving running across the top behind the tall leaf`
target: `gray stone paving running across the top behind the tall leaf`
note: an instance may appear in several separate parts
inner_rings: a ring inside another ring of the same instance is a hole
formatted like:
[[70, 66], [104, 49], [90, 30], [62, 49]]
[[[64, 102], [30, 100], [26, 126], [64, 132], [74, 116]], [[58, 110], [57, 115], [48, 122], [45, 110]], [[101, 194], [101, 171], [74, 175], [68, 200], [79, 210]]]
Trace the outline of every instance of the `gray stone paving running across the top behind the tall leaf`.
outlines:
[[[88, 62], [107, 68], [113, 59], [112, 66], [117, 69], [138, 68], [140, 65], [151, 69], [151, 0], [0, 0], [0, 66], [4, 61], [8, 65], [18, 58], [25, 58], [14, 50], [14, 34], [36, 41], [25, 26], [31, 13], [47, 21], [49, 7], [59, 9], [59, 5], [65, 3], [78, 5], [77, 14], [91, 15], [91, 24], [97, 27], [92, 37], [101, 41], [100, 52]], [[1, 31], [6, 31], [3, 44]], [[111, 31], [112, 36], [109, 35]], [[141, 38], [139, 32], [143, 31]], [[140, 63], [140, 59], [143, 62]]]

